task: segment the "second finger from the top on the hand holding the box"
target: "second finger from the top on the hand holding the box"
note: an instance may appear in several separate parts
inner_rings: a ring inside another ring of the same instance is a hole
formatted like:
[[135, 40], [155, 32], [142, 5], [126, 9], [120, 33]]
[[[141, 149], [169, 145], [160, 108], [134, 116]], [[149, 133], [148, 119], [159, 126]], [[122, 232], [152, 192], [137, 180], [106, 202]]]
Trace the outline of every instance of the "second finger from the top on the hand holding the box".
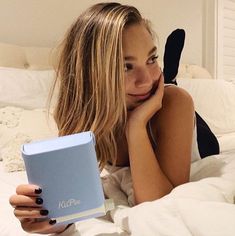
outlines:
[[10, 204], [13, 207], [41, 207], [43, 199], [40, 197], [28, 197], [24, 195], [13, 195], [9, 199]]

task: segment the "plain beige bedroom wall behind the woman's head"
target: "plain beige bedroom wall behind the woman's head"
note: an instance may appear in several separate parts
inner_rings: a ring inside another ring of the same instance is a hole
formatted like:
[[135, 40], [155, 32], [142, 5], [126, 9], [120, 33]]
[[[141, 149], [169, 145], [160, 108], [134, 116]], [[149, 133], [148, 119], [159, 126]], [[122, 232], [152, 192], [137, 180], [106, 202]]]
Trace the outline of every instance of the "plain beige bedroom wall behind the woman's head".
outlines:
[[[97, 0], [0, 0], [0, 41], [54, 47], [72, 21]], [[186, 31], [181, 62], [202, 65], [203, 0], [126, 0], [153, 22], [160, 55], [175, 28]]]

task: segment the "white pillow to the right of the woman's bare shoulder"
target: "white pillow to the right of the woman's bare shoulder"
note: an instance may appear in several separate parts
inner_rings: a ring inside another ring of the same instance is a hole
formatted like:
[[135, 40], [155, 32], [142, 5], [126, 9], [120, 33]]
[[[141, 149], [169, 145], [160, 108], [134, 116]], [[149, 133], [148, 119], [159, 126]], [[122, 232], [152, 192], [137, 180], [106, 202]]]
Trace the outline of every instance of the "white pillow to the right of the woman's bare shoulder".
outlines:
[[191, 94], [195, 110], [216, 135], [235, 132], [235, 84], [215, 79], [177, 82]]

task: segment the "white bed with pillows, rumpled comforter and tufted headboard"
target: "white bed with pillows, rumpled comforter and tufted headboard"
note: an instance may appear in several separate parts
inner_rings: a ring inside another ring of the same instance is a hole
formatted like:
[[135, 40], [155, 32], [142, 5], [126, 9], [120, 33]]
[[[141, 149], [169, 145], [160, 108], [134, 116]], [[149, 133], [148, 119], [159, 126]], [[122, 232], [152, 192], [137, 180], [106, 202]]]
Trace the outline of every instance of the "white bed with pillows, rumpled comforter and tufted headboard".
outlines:
[[[45, 116], [54, 75], [47, 60], [49, 52], [0, 44], [2, 236], [28, 235], [8, 203], [15, 187], [27, 182], [20, 144], [57, 133], [53, 119], [48, 122]], [[194, 162], [190, 183], [162, 199], [134, 207], [129, 169], [118, 169], [111, 176], [103, 173], [104, 190], [114, 199], [115, 209], [106, 218], [79, 222], [61, 236], [235, 235], [235, 84], [214, 80], [196, 65], [182, 65], [178, 77], [182, 77], [179, 86], [189, 91], [196, 110], [218, 137], [221, 153]]]

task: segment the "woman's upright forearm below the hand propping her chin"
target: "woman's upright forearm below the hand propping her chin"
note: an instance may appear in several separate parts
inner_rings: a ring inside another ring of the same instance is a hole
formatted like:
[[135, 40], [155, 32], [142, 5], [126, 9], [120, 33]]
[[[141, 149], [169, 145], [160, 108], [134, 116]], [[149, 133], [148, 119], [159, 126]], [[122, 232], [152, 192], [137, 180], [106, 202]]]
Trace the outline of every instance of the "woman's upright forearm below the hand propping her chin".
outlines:
[[140, 124], [129, 127], [127, 143], [136, 203], [152, 201], [168, 194], [173, 185], [160, 168], [146, 127]]

